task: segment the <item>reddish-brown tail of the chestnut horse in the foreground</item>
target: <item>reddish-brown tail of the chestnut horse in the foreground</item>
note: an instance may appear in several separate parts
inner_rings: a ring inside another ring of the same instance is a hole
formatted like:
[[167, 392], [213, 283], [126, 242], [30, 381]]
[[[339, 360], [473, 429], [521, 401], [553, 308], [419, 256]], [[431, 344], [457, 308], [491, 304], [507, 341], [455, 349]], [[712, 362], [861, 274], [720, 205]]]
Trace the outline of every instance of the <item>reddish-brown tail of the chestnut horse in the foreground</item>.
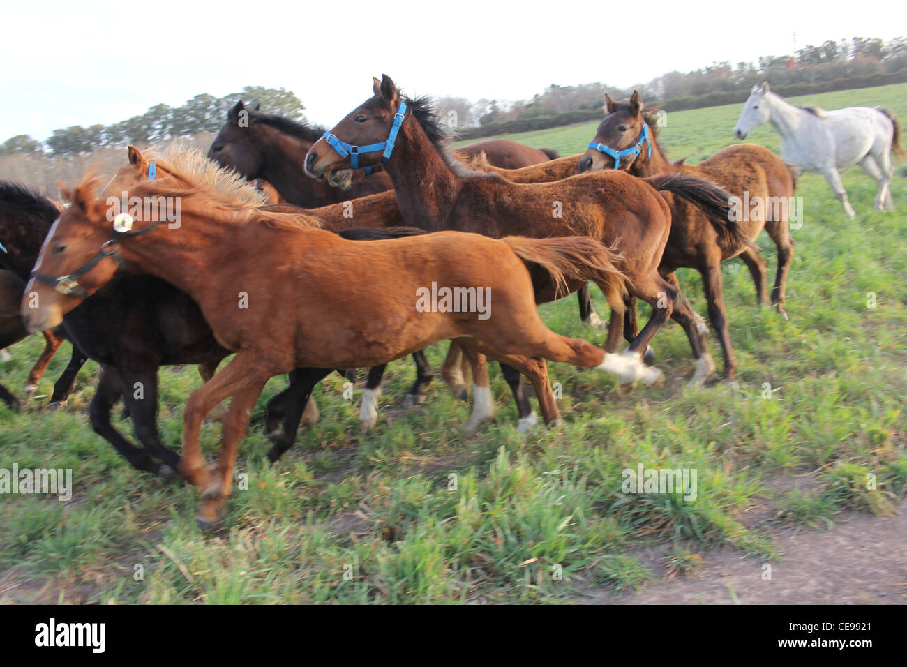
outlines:
[[621, 256], [613, 247], [608, 248], [588, 236], [551, 239], [505, 236], [501, 240], [527, 266], [537, 264], [551, 275], [555, 299], [569, 293], [567, 280], [592, 280], [600, 286], [611, 309], [623, 313], [626, 277], [618, 268]]

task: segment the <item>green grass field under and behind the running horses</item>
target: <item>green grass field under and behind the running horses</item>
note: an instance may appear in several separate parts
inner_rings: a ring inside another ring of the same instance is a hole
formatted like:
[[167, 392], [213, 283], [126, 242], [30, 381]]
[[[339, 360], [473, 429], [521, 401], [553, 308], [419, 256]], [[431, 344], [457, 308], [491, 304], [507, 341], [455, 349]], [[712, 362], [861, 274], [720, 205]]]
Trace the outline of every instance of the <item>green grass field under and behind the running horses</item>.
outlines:
[[[883, 104], [907, 120], [907, 85], [796, 101]], [[668, 113], [662, 142], [672, 158], [697, 162], [735, 142], [739, 111]], [[566, 155], [584, 149], [596, 124], [509, 138]], [[778, 148], [768, 127], [749, 140]], [[414, 368], [400, 361], [388, 369], [372, 432], [359, 432], [360, 392], [345, 399], [344, 380], [333, 376], [316, 391], [320, 422], [268, 466], [262, 406], [286, 382], [274, 378], [240, 446], [248, 488], [234, 491], [218, 535], [196, 529], [193, 489], [132, 470], [93, 434], [92, 362], [65, 410], [40, 409], [65, 366], [66, 344], [24, 412], [0, 407], [0, 467], [73, 469], [68, 503], [0, 498], [0, 602], [559, 602], [601, 586], [645, 586], [652, 574], [639, 553], [649, 546], [668, 544], [674, 571], [695, 568], [697, 555], [717, 544], [783, 559], [773, 526], [834, 525], [844, 509], [888, 513], [907, 486], [903, 161], [895, 173], [899, 211], [889, 212], [873, 211], [871, 179], [844, 175], [854, 221], [821, 176], [800, 180], [805, 220], [794, 231], [789, 321], [756, 307], [738, 260], [725, 264], [738, 385], [685, 388], [693, 360], [683, 331], [669, 324], [653, 340], [664, 387], [621, 391], [601, 374], [551, 364], [564, 424], [525, 440], [494, 368], [496, 421], [464, 436], [458, 426], [469, 406], [440, 380], [424, 406], [401, 407]], [[773, 277], [774, 246], [765, 235], [758, 242]], [[698, 276], [681, 271], [680, 282], [705, 313]], [[561, 334], [604, 341], [604, 331], [580, 327], [575, 299], [541, 312]], [[0, 366], [0, 381], [20, 395], [42, 342], [16, 345]], [[435, 368], [445, 348], [429, 350]], [[714, 338], [710, 350], [720, 357]], [[161, 372], [160, 423], [171, 446], [179, 446], [181, 410], [199, 386], [195, 368]], [[128, 420], [117, 418], [130, 434]], [[210, 457], [219, 429], [203, 430]], [[697, 498], [622, 493], [621, 471], [639, 464], [695, 469]]]

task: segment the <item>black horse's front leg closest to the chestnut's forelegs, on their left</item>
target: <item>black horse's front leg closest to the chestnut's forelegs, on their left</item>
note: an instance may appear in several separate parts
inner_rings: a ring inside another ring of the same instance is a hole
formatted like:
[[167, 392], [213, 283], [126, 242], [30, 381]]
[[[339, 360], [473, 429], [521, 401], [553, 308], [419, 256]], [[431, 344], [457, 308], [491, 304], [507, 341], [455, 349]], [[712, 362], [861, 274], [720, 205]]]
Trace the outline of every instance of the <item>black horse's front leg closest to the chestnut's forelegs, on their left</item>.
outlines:
[[159, 475], [171, 476], [180, 463], [158, 431], [158, 368], [153, 364], [120, 369], [122, 400], [132, 420], [132, 432], [145, 452], [161, 461]]

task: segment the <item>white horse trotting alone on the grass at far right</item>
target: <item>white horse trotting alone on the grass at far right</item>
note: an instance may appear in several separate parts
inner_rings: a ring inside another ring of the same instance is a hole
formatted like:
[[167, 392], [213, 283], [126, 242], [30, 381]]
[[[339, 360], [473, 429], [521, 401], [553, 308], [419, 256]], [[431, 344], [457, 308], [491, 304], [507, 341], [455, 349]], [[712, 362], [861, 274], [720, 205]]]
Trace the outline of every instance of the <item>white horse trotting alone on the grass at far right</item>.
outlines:
[[893, 209], [892, 149], [907, 154], [901, 145], [901, 125], [881, 107], [852, 106], [824, 111], [814, 106], [797, 106], [768, 90], [768, 83], [754, 85], [734, 127], [739, 139], [746, 139], [763, 123], [772, 123], [781, 135], [781, 155], [810, 172], [819, 172], [851, 218], [856, 217], [841, 173], [859, 163], [879, 184], [875, 208]]

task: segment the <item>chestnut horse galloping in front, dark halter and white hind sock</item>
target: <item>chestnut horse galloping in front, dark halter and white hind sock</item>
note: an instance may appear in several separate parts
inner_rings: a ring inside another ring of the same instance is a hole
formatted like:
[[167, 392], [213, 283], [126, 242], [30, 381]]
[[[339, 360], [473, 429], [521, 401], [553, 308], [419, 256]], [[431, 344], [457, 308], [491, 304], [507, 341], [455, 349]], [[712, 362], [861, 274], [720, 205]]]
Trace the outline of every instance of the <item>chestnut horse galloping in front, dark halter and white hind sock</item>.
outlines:
[[[71, 206], [44, 243], [26, 288], [23, 319], [33, 331], [56, 326], [83, 294], [112, 280], [121, 263], [168, 280], [199, 304], [215, 338], [236, 352], [191, 395], [184, 412], [180, 472], [203, 492], [197, 514], [202, 527], [219, 519], [230, 493], [237, 445], [256, 398], [268, 378], [293, 368], [375, 366], [456, 338], [473, 364], [483, 364], [487, 355], [531, 378], [549, 423], [558, 411], [546, 359], [631, 378], [652, 370], [585, 340], [558, 336], [539, 317], [527, 264], [549, 274], [551, 289], [594, 276], [617, 295], [615, 307], [622, 303], [624, 277], [616, 257], [596, 240], [493, 240], [444, 231], [353, 241], [321, 229], [312, 216], [240, 204], [210, 187], [174, 189], [165, 179], [120, 186], [130, 201], [180, 198], [173, 200], [180, 201], [173, 228], [167, 218], [143, 220], [141, 205], [112, 215], [116, 209], [98, 195], [97, 185], [89, 174], [73, 191], [63, 190]], [[493, 295], [487, 301], [493, 314], [483, 319], [481, 311], [452, 309], [444, 301], [426, 307], [420, 293], [438, 286], [486, 290]], [[227, 397], [232, 400], [212, 471], [200, 451], [201, 420]]]

